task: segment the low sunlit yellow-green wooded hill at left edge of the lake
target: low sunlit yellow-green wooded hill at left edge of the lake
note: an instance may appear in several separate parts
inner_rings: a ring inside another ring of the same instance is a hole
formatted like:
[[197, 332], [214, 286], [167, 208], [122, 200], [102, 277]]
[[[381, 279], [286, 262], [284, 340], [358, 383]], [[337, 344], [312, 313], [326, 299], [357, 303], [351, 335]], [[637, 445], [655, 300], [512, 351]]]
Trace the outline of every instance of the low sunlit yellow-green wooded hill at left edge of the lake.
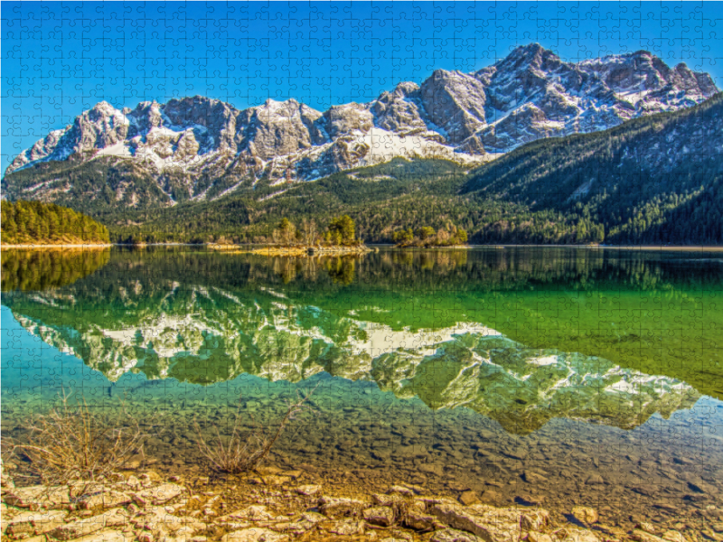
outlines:
[[98, 244], [109, 242], [108, 228], [88, 216], [40, 201], [2, 201], [4, 245]]

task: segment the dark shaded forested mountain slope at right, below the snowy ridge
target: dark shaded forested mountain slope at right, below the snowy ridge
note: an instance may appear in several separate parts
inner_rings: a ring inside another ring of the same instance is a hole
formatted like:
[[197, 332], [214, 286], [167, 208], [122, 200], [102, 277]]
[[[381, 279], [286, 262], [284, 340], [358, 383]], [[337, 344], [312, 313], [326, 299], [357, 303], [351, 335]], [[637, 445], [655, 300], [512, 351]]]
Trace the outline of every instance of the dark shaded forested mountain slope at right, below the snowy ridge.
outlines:
[[[526, 145], [461, 193], [576, 213], [609, 242], [723, 242], [723, 94], [591, 135]], [[602, 240], [602, 239], [600, 239]]]

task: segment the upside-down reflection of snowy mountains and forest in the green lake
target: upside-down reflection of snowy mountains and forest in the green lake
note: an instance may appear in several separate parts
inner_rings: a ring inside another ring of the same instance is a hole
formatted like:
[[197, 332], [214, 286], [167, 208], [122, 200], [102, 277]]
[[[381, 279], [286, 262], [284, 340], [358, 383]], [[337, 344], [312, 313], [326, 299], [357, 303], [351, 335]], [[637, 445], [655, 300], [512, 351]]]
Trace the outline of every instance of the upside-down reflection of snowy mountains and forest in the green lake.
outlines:
[[[538, 256], [119, 251], [72, 284], [8, 288], [3, 304], [108, 388], [133, 373], [204, 387], [328, 373], [432, 409], [464, 406], [520, 435], [553, 418], [632, 429], [720, 393], [715, 335], [701, 332], [723, 322], [719, 259], [681, 274], [690, 255]], [[5, 253], [4, 269], [14, 265]], [[49, 265], [30, 264], [39, 276]], [[688, 329], [684, 311], [700, 314]]]

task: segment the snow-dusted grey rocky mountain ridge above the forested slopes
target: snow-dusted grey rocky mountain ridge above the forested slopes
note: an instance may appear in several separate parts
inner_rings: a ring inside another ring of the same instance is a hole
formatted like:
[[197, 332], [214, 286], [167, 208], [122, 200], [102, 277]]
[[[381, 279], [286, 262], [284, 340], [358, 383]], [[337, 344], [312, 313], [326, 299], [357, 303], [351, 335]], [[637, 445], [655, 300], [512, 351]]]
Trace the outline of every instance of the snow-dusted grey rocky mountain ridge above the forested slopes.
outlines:
[[[474, 73], [436, 70], [421, 85], [401, 82], [369, 103], [324, 112], [295, 99], [244, 110], [200, 96], [123, 110], [100, 102], [19, 154], [5, 185], [28, 166], [113, 157], [150, 175], [173, 205], [215, 199], [244, 182], [309, 181], [398, 156], [479, 164], [536, 139], [689, 107], [717, 91], [708, 74], [670, 68], [647, 51], [569, 63], [533, 43]], [[67, 182], [61, 175], [25, 186], [22, 196], [52, 201]], [[123, 199], [132, 179], [113, 190]]]

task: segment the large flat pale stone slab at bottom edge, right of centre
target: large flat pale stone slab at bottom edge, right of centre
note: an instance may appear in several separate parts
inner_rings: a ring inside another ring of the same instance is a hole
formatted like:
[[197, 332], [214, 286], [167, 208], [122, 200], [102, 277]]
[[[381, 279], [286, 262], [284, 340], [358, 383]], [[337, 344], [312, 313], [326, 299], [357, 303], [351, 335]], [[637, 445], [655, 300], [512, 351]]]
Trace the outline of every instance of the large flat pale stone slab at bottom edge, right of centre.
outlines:
[[432, 506], [431, 513], [445, 525], [473, 533], [487, 542], [518, 542], [520, 539], [520, 513], [514, 509], [497, 509], [484, 504], [465, 508], [440, 503]]

